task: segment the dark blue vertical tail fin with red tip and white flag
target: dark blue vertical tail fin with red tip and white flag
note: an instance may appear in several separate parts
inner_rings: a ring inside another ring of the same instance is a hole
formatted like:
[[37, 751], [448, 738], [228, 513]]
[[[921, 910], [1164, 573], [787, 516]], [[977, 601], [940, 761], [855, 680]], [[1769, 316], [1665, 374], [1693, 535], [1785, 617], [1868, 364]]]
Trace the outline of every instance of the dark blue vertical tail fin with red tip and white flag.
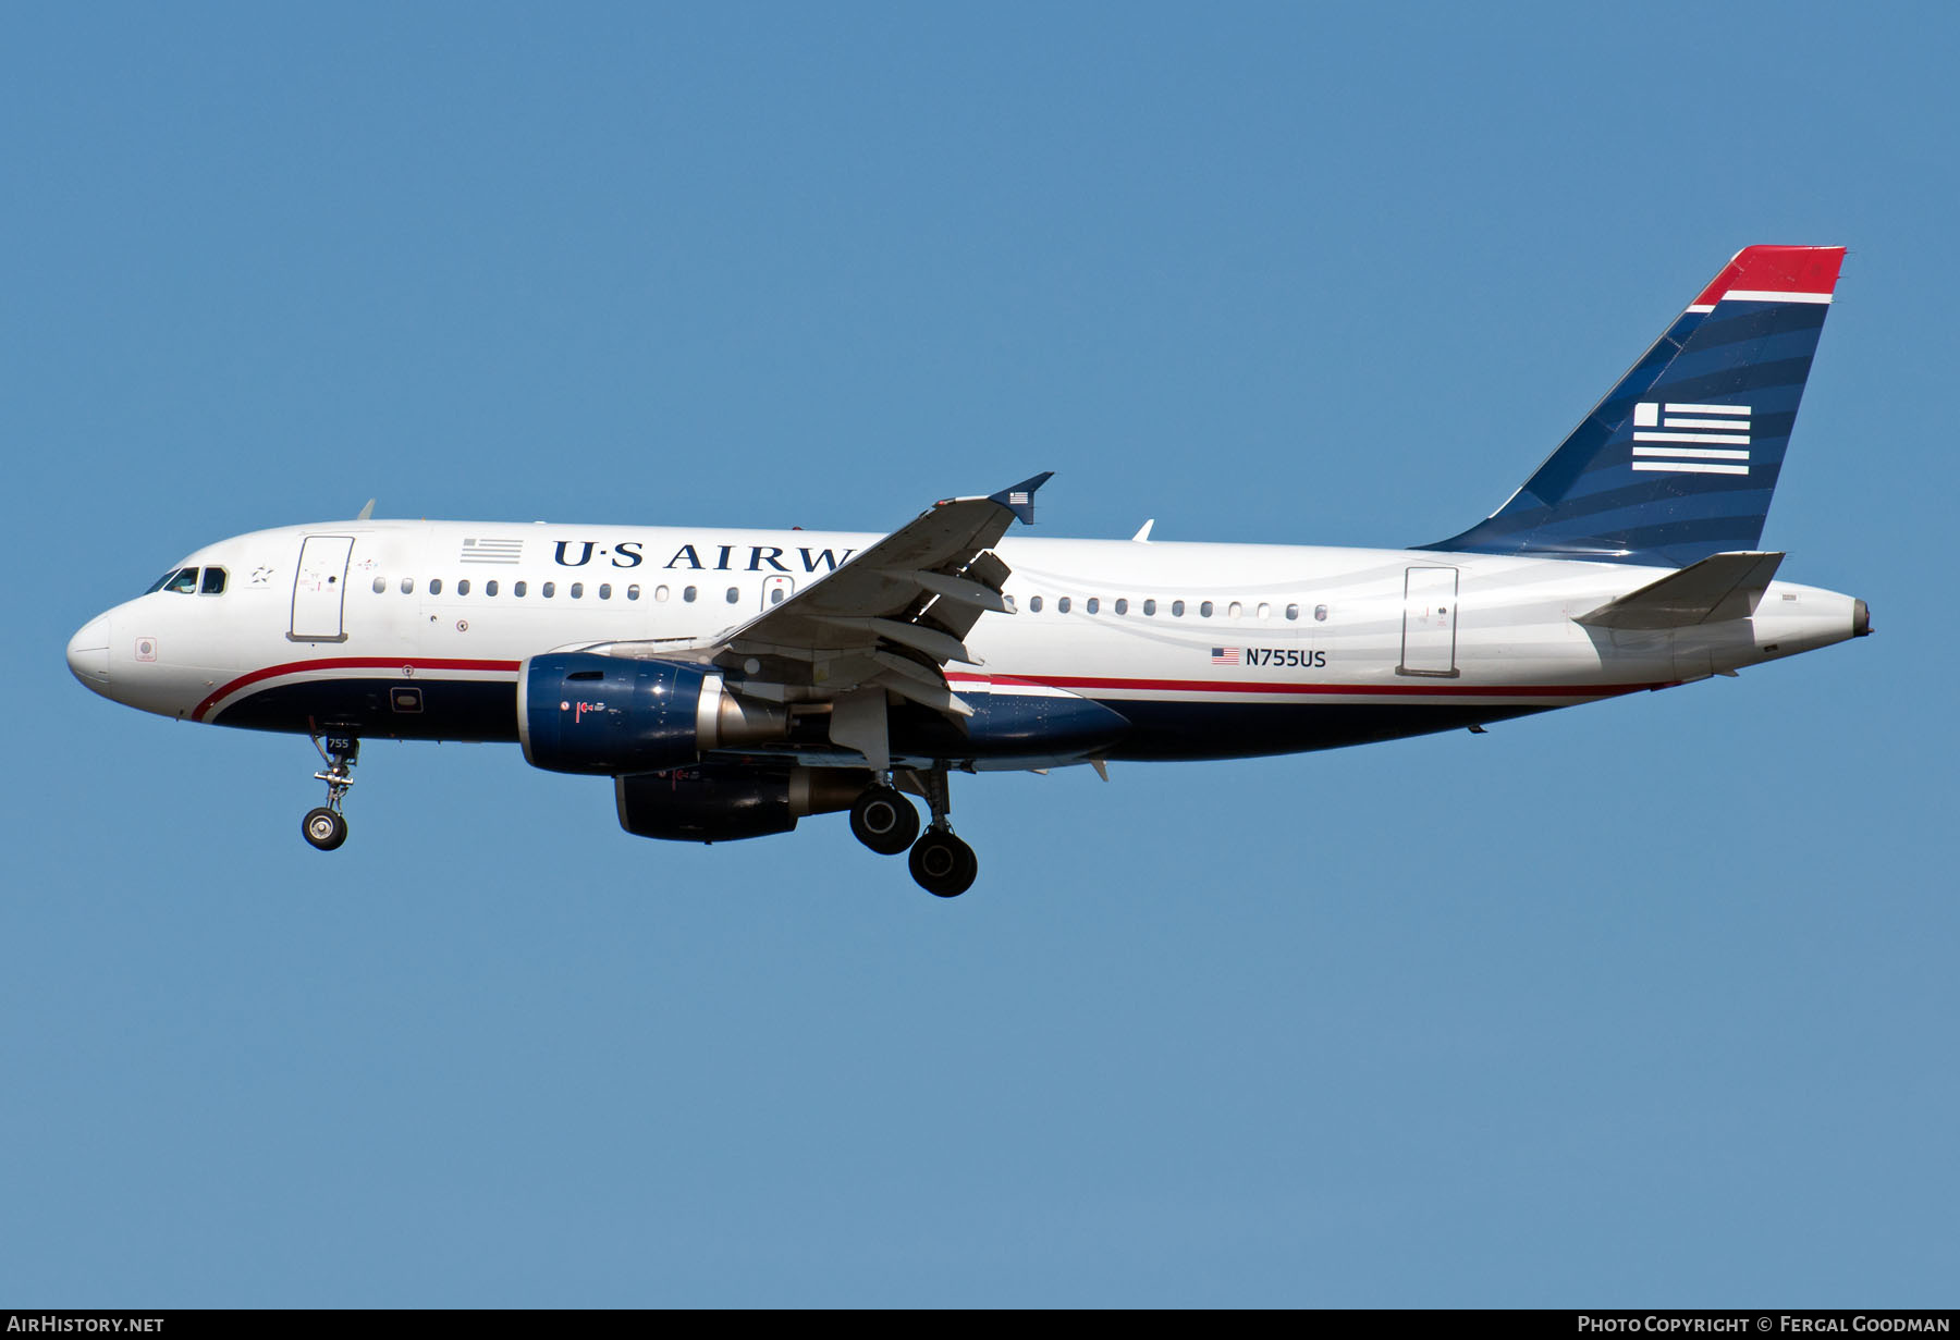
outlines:
[[1419, 549], [1674, 568], [1756, 549], [1842, 261], [1739, 251], [1503, 507]]

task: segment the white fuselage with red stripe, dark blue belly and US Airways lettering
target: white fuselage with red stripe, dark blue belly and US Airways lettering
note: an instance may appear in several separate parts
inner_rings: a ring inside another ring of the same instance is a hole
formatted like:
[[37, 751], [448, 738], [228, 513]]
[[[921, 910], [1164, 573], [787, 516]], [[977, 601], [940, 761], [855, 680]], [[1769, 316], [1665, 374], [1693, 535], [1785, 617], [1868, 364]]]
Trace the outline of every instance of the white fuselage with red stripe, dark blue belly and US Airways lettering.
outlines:
[[[711, 639], [878, 539], [455, 521], [259, 531], [178, 564], [223, 570], [221, 592], [116, 605], [76, 633], [69, 660], [96, 692], [169, 717], [510, 741], [527, 656]], [[955, 692], [1090, 697], [1135, 723], [1107, 750], [1117, 758], [1474, 725], [1862, 631], [1852, 598], [1788, 582], [1752, 617], [1658, 631], [1578, 623], [1668, 574], [1623, 562], [1021, 537], [996, 550], [1013, 570], [1013, 613], [978, 621], [966, 646], [980, 664], [947, 666]]]

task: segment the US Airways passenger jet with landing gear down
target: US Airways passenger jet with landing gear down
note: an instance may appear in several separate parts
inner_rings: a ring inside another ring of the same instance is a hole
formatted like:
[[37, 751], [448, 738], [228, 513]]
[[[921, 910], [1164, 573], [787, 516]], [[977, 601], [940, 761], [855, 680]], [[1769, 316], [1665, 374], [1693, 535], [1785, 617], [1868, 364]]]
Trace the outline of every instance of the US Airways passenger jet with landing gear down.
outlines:
[[627, 833], [849, 811], [955, 897], [978, 874], [955, 772], [1482, 731], [1868, 635], [1862, 599], [1756, 549], [1842, 259], [1739, 251], [1497, 511], [1429, 545], [1009, 537], [1049, 474], [888, 535], [368, 503], [188, 554], [82, 625], [69, 668], [163, 717], [312, 737], [321, 850], [361, 741], [514, 741], [612, 778]]

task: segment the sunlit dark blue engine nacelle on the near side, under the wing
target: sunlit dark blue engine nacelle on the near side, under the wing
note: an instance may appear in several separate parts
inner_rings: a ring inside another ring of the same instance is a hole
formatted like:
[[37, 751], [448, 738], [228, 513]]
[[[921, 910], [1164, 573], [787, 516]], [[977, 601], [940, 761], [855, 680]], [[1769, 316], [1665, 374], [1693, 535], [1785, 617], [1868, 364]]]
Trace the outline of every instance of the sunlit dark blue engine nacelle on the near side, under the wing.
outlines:
[[551, 772], [657, 772], [786, 733], [780, 707], [735, 697], [710, 666], [547, 652], [517, 676], [523, 756]]

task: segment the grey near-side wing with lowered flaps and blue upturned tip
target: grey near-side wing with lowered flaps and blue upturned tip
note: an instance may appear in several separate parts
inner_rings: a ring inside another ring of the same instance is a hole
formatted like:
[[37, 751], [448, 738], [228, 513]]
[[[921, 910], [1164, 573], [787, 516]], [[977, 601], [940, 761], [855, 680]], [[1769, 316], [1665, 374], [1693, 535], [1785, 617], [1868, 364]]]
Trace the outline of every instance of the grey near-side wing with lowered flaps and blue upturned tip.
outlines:
[[833, 742], [884, 756], [886, 694], [945, 713], [972, 709], [943, 666], [978, 664], [966, 635], [1002, 598], [1007, 564], [992, 547], [1015, 517], [1033, 523], [1035, 490], [1053, 470], [986, 498], [947, 498], [780, 605], [711, 639], [594, 646], [619, 656], [674, 656], [729, 672], [729, 690], [776, 701], [835, 701]]

